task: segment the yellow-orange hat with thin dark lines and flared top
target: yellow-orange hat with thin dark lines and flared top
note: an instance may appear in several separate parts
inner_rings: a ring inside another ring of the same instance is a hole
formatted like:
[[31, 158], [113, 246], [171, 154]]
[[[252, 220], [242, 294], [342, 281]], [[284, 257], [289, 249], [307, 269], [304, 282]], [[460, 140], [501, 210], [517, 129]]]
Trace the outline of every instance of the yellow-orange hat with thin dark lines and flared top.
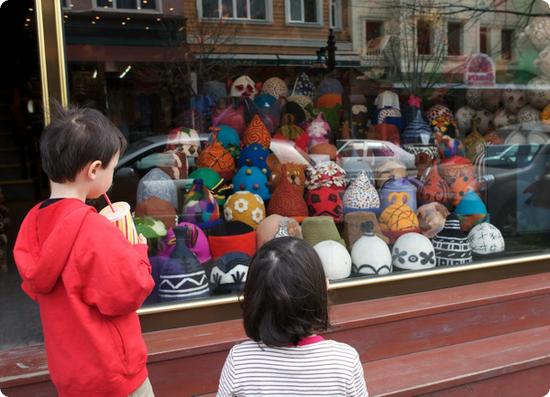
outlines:
[[405, 192], [392, 192], [387, 198], [389, 206], [380, 214], [380, 229], [394, 242], [399, 236], [418, 232], [418, 218], [414, 211], [407, 205], [409, 196]]

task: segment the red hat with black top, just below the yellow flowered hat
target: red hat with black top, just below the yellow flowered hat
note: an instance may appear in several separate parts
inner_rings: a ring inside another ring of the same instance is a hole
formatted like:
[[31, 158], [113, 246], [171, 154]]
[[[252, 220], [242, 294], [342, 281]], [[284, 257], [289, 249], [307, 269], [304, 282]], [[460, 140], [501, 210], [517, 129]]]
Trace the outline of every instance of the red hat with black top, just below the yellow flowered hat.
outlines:
[[229, 253], [256, 253], [256, 230], [239, 221], [223, 222], [208, 230], [208, 243], [214, 260]]

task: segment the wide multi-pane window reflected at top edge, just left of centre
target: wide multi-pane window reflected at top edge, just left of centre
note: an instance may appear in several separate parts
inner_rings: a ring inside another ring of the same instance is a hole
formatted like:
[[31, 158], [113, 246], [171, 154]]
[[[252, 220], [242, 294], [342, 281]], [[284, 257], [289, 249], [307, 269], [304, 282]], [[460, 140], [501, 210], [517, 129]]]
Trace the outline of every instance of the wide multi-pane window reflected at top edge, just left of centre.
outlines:
[[268, 0], [201, 0], [202, 18], [267, 19]]

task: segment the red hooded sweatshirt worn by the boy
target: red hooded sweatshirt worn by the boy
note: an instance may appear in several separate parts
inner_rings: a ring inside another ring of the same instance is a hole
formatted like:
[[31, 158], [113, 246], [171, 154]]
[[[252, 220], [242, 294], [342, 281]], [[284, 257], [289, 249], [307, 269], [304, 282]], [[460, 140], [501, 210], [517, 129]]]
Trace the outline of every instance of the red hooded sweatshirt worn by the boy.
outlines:
[[40, 305], [59, 396], [135, 391], [147, 377], [136, 314], [154, 286], [147, 246], [132, 246], [93, 207], [66, 198], [28, 213], [14, 257], [23, 290]]

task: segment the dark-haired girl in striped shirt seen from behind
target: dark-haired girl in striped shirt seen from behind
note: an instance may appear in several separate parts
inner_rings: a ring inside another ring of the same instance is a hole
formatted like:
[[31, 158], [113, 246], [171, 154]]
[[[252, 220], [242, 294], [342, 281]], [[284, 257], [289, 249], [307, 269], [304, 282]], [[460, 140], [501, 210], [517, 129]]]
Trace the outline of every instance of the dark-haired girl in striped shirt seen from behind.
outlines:
[[243, 302], [248, 340], [225, 361], [218, 397], [367, 397], [357, 351], [317, 335], [329, 327], [327, 279], [315, 250], [293, 237], [252, 259]]

